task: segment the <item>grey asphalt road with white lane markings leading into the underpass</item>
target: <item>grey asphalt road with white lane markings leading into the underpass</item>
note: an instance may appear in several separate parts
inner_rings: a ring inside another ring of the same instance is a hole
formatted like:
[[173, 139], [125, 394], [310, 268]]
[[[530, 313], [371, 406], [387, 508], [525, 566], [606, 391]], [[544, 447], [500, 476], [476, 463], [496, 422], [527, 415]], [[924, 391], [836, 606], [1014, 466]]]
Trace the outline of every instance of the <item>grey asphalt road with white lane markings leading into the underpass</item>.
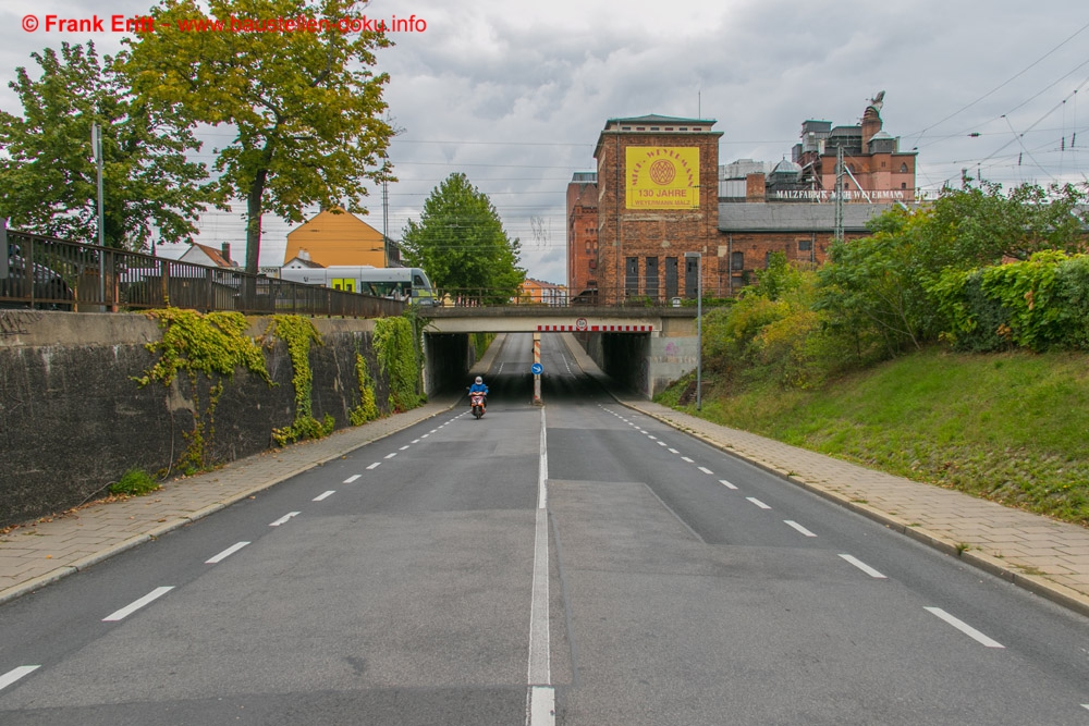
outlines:
[[1085, 618], [531, 356], [0, 606], [0, 724], [1089, 724]]

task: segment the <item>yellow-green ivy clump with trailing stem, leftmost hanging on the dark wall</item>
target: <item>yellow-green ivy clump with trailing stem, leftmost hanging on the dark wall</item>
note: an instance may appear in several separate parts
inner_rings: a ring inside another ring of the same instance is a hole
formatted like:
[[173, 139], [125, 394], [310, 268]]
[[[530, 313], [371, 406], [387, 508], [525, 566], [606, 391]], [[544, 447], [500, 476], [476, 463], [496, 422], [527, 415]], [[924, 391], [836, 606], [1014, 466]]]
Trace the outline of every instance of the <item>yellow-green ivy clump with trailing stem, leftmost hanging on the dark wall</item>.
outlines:
[[[260, 346], [245, 335], [249, 323], [238, 312], [209, 312], [166, 308], [149, 310], [162, 330], [162, 339], [145, 347], [159, 354], [159, 360], [135, 378], [143, 387], [152, 381], [169, 386], [178, 374], [184, 373], [193, 387], [193, 431], [184, 434], [189, 445], [182, 454], [183, 469], [192, 472], [208, 467], [208, 444], [216, 433], [216, 406], [223, 394], [223, 379], [234, 378], [237, 368], [244, 368], [261, 378], [270, 386], [268, 368]], [[197, 378], [210, 382], [207, 408], [200, 410]]]

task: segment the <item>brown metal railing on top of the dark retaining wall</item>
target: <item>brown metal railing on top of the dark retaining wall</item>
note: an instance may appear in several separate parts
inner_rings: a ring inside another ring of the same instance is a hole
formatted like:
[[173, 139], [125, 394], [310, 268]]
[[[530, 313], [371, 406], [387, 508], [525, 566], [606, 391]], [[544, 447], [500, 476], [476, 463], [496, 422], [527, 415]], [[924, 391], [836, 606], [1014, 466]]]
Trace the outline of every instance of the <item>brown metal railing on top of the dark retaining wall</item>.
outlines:
[[400, 300], [25, 232], [8, 231], [7, 256], [0, 307], [8, 308], [118, 312], [171, 306], [345, 318], [397, 316], [405, 308]]

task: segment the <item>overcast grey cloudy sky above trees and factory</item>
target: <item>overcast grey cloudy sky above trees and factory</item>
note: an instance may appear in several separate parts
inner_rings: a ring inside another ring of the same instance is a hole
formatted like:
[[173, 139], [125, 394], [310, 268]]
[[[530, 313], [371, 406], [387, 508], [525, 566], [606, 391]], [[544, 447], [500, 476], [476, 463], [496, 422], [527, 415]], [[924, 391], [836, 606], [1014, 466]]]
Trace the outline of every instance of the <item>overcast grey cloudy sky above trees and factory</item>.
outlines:
[[[25, 15], [146, 12], [149, 0], [7, 0], [0, 76], [62, 40], [119, 48], [111, 33], [23, 29]], [[1089, 174], [1089, 3], [1084, 0], [374, 0], [375, 19], [415, 15], [379, 53], [390, 74], [389, 233], [464, 172], [523, 245], [530, 276], [564, 282], [564, 192], [595, 169], [610, 118], [709, 118], [720, 162], [790, 158], [802, 122], [858, 123], [885, 91], [884, 128], [917, 148], [922, 189], [971, 176], [1084, 182]], [[417, 28], [421, 26], [417, 22]], [[0, 89], [0, 108], [19, 113]], [[381, 229], [381, 195], [368, 220]], [[540, 221], [535, 224], [534, 220]], [[262, 263], [282, 262], [290, 225], [265, 221]], [[242, 257], [240, 214], [209, 212], [200, 242]]]

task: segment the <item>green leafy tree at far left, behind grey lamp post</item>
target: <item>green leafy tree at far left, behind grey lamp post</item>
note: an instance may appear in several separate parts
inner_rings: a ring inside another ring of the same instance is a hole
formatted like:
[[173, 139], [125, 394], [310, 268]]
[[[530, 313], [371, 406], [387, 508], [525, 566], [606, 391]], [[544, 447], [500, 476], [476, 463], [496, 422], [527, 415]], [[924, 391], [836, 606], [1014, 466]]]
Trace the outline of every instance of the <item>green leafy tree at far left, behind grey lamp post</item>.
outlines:
[[103, 237], [108, 246], [145, 249], [151, 226], [168, 242], [188, 239], [207, 195], [204, 164], [186, 158], [200, 148], [169, 107], [137, 99], [119, 71], [122, 58], [88, 42], [61, 45], [30, 57], [9, 85], [23, 115], [0, 111], [0, 216], [24, 230], [98, 242], [97, 169], [90, 127], [102, 135]]

